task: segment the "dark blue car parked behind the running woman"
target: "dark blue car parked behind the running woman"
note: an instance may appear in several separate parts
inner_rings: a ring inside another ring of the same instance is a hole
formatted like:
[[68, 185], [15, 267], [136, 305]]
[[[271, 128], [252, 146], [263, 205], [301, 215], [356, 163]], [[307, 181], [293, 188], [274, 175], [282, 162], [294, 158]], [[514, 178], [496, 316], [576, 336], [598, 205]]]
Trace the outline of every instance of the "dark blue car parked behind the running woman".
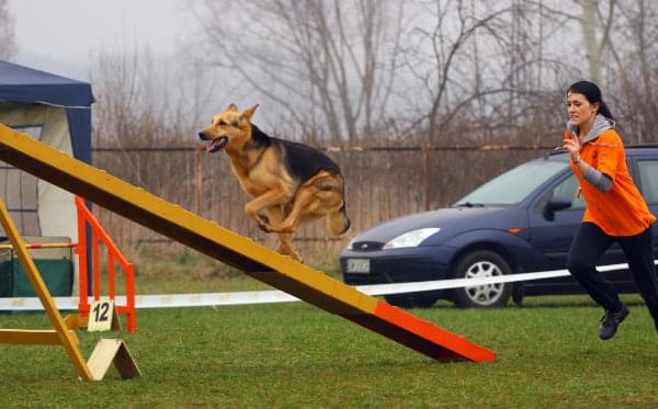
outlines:
[[[626, 148], [631, 174], [658, 215], [658, 147]], [[565, 154], [525, 162], [483, 184], [452, 207], [418, 213], [372, 227], [341, 253], [350, 285], [484, 277], [564, 269], [585, 202]], [[658, 228], [654, 228], [658, 245]], [[613, 246], [601, 264], [625, 263]], [[636, 292], [628, 271], [606, 273], [622, 293]], [[439, 298], [460, 307], [498, 307], [510, 296], [576, 294], [569, 276], [446, 291], [388, 295], [402, 307], [429, 307]]]

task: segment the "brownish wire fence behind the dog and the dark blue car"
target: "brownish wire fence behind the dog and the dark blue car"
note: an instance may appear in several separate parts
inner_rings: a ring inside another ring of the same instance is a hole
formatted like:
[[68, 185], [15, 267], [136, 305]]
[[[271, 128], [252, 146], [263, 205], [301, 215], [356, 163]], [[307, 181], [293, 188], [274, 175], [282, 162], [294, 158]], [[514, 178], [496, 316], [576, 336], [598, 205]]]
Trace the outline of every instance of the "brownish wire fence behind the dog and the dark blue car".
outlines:
[[[494, 175], [551, 151], [546, 146], [322, 147], [345, 177], [352, 227], [340, 238], [326, 234], [322, 221], [302, 226], [295, 246], [311, 262], [336, 258], [349, 240], [381, 221], [450, 205]], [[250, 197], [242, 192], [226, 155], [202, 147], [93, 149], [94, 166], [220, 226], [265, 246], [262, 232], [245, 215]], [[123, 246], [169, 243], [128, 219], [97, 206], [94, 214]]]

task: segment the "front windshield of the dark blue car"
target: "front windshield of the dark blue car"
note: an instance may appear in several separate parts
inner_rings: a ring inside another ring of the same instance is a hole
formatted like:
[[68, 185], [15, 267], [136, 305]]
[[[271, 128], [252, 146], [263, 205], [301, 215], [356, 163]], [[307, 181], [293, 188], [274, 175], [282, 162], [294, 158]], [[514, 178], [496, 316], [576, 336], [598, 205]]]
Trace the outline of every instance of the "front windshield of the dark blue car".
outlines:
[[567, 166], [566, 162], [555, 160], [533, 160], [523, 163], [477, 188], [457, 201], [454, 206], [510, 206], [517, 204]]

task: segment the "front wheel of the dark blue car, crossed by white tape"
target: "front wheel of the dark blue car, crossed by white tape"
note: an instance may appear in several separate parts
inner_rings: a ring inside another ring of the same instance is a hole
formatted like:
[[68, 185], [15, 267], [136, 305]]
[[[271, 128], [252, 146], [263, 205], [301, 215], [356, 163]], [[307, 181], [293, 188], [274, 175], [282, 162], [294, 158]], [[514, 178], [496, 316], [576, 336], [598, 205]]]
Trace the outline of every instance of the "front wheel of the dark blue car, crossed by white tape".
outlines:
[[[457, 263], [454, 279], [481, 279], [511, 274], [508, 262], [497, 252], [477, 250], [464, 255]], [[476, 285], [452, 291], [454, 303], [463, 308], [490, 308], [507, 305], [512, 283]]]

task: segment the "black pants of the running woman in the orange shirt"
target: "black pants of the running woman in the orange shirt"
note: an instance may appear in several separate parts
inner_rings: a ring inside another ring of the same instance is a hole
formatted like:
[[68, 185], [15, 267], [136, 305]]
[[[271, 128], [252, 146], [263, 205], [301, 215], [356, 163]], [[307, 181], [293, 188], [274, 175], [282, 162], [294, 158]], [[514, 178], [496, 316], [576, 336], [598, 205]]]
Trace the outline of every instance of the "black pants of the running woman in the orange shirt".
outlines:
[[580, 225], [567, 259], [567, 269], [603, 308], [617, 313], [622, 302], [614, 286], [597, 271], [597, 261], [614, 242], [624, 251], [633, 279], [658, 329], [658, 280], [654, 266], [651, 226], [636, 236], [608, 236], [593, 223]]

